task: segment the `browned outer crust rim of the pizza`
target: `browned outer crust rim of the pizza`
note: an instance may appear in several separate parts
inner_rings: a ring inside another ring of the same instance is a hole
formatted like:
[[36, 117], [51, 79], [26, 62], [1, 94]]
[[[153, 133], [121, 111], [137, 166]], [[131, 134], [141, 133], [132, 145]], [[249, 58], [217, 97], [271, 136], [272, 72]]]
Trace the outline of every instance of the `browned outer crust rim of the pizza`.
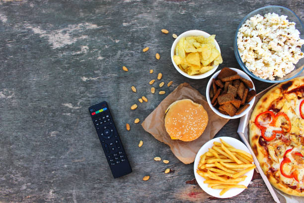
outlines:
[[[256, 116], [268, 110], [270, 104], [280, 98], [283, 97], [284, 93], [287, 93], [295, 88], [304, 85], [304, 77], [295, 78], [291, 81], [287, 81], [285, 83], [281, 83], [272, 89], [270, 89], [265, 95], [261, 97], [259, 102], [256, 103], [253, 112], [251, 114], [251, 118], [249, 120], [249, 141], [251, 148], [260, 163], [260, 166], [264, 172], [264, 174], [268, 177], [269, 182], [278, 190], [293, 196], [304, 196], [304, 193], [301, 193], [297, 190], [291, 189], [284, 183], [278, 182], [272, 174], [267, 173], [270, 168], [270, 165], [267, 164], [268, 152], [267, 150], [259, 144], [259, 137], [261, 135], [261, 130], [255, 125], [254, 120]], [[267, 148], [267, 146], [266, 146]]]

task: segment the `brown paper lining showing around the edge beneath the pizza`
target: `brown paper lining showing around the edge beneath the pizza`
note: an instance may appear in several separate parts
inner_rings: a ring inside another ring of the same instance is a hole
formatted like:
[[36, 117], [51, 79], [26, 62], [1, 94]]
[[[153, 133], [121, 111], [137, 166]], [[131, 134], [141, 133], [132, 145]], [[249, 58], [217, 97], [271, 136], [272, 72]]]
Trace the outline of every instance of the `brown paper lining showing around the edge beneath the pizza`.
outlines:
[[[298, 77], [302, 77], [302, 76], [304, 76], [304, 72], [301, 73]], [[271, 88], [275, 87], [278, 84], [274, 84], [274, 85], [270, 86], [269, 88], [267, 88], [267, 89], [263, 90], [262, 92], [260, 92], [259, 94], [257, 94], [257, 96], [255, 97], [253, 108], [251, 108], [249, 110], [247, 121], [245, 122], [246, 127], [245, 127], [245, 130], [244, 130], [244, 136], [246, 137], [246, 139], [248, 141], [249, 141], [249, 120], [251, 118], [251, 114], [253, 112], [254, 106], [261, 99], [261, 97], [263, 95], [265, 95]], [[297, 196], [287, 195], [286, 193], [283, 193], [283, 192], [281, 192], [280, 190], [278, 190], [274, 187], [273, 187], [273, 189], [276, 192], [276, 195], [279, 198], [280, 203], [304, 203], [304, 197], [297, 197]]]

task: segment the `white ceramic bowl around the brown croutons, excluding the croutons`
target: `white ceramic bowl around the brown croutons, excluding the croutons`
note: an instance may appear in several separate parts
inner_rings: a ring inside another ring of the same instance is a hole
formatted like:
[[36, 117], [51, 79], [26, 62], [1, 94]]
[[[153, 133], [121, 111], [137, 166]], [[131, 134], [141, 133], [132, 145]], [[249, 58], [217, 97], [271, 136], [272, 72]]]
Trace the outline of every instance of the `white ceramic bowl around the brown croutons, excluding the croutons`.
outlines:
[[[230, 69], [232, 69], [233, 71], [236, 71], [237, 74], [238, 74], [240, 77], [245, 78], [245, 79], [247, 79], [247, 80], [250, 80], [250, 81], [252, 82], [252, 80], [250, 79], [250, 77], [249, 77], [247, 74], [245, 74], [244, 72], [242, 72], [241, 70], [238, 70], [238, 69], [236, 69], [236, 68], [230, 68]], [[228, 118], [228, 119], [234, 119], [234, 118], [242, 117], [243, 115], [245, 115], [245, 114], [252, 108], [253, 103], [254, 103], [254, 100], [255, 100], [255, 97], [249, 102], [250, 105], [249, 105], [249, 107], [248, 107], [246, 110], [244, 110], [242, 113], [240, 113], [240, 114], [238, 114], [238, 115], [234, 115], [234, 116], [229, 116], [229, 115], [225, 115], [225, 114], [221, 113], [218, 109], [216, 109], [216, 108], [211, 104], [211, 99], [210, 99], [210, 96], [209, 96], [209, 92], [210, 92], [210, 89], [211, 89], [211, 87], [212, 87], [212, 79], [215, 79], [216, 77], [218, 77], [218, 75], [219, 75], [220, 72], [221, 72], [221, 71], [216, 72], [216, 73], [210, 78], [210, 80], [209, 80], [209, 82], [208, 82], [208, 84], [207, 84], [207, 89], [206, 89], [206, 98], [207, 98], [207, 102], [209, 103], [211, 109], [212, 109], [216, 114], [218, 114], [218, 115], [221, 116], [221, 117]], [[252, 82], [252, 84], [253, 84], [253, 82]], [[253, 88], [252, 88], [252, 89], [249, 89], [249, 91], [250, 91], [250, 90], [255, 90], [254, 84], [253, 84]]]

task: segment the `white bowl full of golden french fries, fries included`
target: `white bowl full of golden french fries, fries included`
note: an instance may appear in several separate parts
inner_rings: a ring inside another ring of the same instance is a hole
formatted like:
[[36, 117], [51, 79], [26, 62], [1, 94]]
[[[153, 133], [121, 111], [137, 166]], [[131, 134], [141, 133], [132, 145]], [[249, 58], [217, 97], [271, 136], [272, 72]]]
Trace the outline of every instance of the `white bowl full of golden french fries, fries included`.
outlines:
[[232, 137], [218, 137], [206, 142], [194, 161], [194, 175], [209, 195], [230, 198], [249, 185], [255, 165], [248, 148]]

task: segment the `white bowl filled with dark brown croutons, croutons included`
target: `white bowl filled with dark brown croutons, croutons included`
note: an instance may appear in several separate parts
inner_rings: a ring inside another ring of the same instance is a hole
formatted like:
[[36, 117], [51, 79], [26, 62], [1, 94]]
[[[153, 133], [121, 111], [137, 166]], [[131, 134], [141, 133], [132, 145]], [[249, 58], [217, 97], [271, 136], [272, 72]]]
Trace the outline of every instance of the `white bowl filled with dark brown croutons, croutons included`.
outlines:
[[255, 87], [250, 77], [236, 68], [223, 68], [209, 80], [206, 98], [211, 109], [221, 117], [234, 119], [253, 106]]

